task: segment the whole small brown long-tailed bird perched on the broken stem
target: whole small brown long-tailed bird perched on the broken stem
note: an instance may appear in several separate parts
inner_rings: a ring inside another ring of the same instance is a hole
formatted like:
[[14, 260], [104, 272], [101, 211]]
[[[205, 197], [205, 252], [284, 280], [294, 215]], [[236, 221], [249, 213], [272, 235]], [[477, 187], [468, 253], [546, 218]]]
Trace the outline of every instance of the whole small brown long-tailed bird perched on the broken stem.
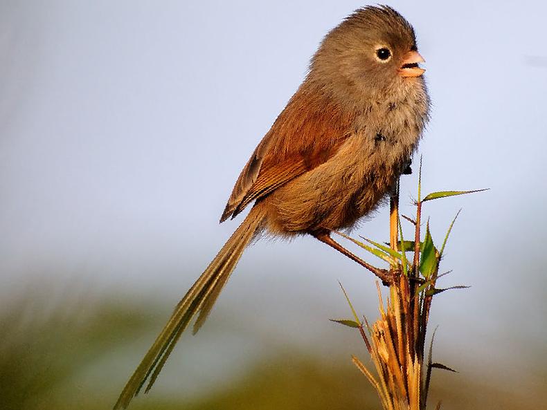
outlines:
[[[390, 194], [428, 120], [412, 26], [388, 6], [356, 10], [325, 36], [303, 84], [262, 138], [220, 218], [251, 211], [188, 290], [127, 382], [116, 408], [150, 389], [195, 315], [204, 323], [244, 249], [261, 232], [330, 238]], [[367, 266], [370, 268], [370, 265]], [[385, 271], [375, 273], [384, 280]]]

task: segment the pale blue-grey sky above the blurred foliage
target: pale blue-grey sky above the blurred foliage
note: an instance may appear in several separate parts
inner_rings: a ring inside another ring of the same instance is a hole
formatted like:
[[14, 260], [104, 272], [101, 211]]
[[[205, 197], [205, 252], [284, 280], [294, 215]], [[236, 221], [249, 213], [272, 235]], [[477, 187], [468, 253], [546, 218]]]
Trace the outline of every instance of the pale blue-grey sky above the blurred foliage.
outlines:
[[[226, 198], [319, 41], [363, 5], [2, 1], [3, 290], [37, 277], [84, 281], [161, 295], [170, 310], [237, 226], [217, 223]], [[424, 190], [492, 188], [426, 207], [438, 240], [464, 208], [444, 261], [454, 274], [443, 282], [473, 286], [439, 297], [439, 340], [466, 354], [521, 346], [518, 336], [499, 342], [520, 309], [526, 319], [511, 334], [544, 339], [532, 321], [547, 314], [546, 279], [534, 270], [547, 241], [546, 3], [391, 6], [413, 24], [427, 60]], [[402, 182], [406, 212], [415, 181]], [[386, 222], [383, 209], [355, 233], [382, 239]], [[282, 328], [287, 315], [293, 326], [329, 326], [325, 318], [345, 308], [337, 279], [375, 313], [373, 279], [351, 261], [310, 238], [262, 241], [213, 317], [260, 301]]]

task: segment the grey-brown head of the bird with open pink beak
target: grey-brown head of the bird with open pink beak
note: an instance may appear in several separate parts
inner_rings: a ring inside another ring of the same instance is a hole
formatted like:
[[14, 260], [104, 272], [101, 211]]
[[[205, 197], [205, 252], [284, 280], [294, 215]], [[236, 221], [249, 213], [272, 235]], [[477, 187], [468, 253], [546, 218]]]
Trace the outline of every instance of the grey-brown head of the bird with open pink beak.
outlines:
[[388, 6], [368, 6], [325, 36], [312, 58], [310, 78], [345, 93], [377, 97], [422, 86], [422, 62], [409, 22]]

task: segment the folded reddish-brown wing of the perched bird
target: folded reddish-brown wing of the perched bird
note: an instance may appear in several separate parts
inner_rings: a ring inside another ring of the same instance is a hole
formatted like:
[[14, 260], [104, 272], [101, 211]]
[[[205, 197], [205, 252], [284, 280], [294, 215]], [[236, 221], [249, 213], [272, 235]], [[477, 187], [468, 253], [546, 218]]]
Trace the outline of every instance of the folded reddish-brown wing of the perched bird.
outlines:
[[220, 221], [331, 158], [354, 120], [355, 111], [303, 84], [246, 163]]

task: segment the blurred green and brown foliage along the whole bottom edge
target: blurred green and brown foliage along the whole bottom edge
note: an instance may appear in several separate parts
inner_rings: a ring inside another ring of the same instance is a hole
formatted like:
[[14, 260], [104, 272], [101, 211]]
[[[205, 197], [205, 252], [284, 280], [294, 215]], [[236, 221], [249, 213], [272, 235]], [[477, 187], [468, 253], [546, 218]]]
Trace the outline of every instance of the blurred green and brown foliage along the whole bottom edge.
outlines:
[[[138, 336], [148, 337], [156, 319], [145, 313], [150, 310], [149, 306], [116, 299], [81, 297], [53, 303], [26, 295], [4, 303], [0, 311], [0, 409], [110, 409], [126, 376], [112, 369], [128, 359], [112, 354]], [[341, 346], [344, 337], [342, 333]], [[244, 375], [228, 380], [223, 389], [211, 386], [209, 395], [188, 400], [154, 391], [136, 398], [130, 409], [378, 409], [378, 399], [367, 380], [349, 355], [347, 360], [341, 357], [275, 351], [251, 365]], [[526, 386], [523, 391], [511, 389], [514, 380], [510, 373], [503, 381], [503, 364], [500, 369], [471, 373], [458, 362], [461, 373], [440, 372], [436, 377], [432, 404], [442, 398], [443, 409], [541, 408], [537, 404], [547, 402], [547, 372], [541, 363], [545, 360], [538, 360], [530, 369], [530, 380], [519, 381], [520, 386]], [[93, 369], [99, 376], [87, 378]]]

